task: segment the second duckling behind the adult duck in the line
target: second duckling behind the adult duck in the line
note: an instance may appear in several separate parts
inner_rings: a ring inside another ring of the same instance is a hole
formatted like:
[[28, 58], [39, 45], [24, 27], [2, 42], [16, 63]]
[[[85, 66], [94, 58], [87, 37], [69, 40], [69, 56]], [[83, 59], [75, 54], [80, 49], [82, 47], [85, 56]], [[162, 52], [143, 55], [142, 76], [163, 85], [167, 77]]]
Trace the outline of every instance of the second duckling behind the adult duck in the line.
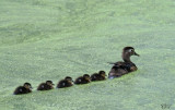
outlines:
[[75, 80], [74, 84], [88, 84], [91, 82], [91, 77], [89, 74], [84, 74]]

